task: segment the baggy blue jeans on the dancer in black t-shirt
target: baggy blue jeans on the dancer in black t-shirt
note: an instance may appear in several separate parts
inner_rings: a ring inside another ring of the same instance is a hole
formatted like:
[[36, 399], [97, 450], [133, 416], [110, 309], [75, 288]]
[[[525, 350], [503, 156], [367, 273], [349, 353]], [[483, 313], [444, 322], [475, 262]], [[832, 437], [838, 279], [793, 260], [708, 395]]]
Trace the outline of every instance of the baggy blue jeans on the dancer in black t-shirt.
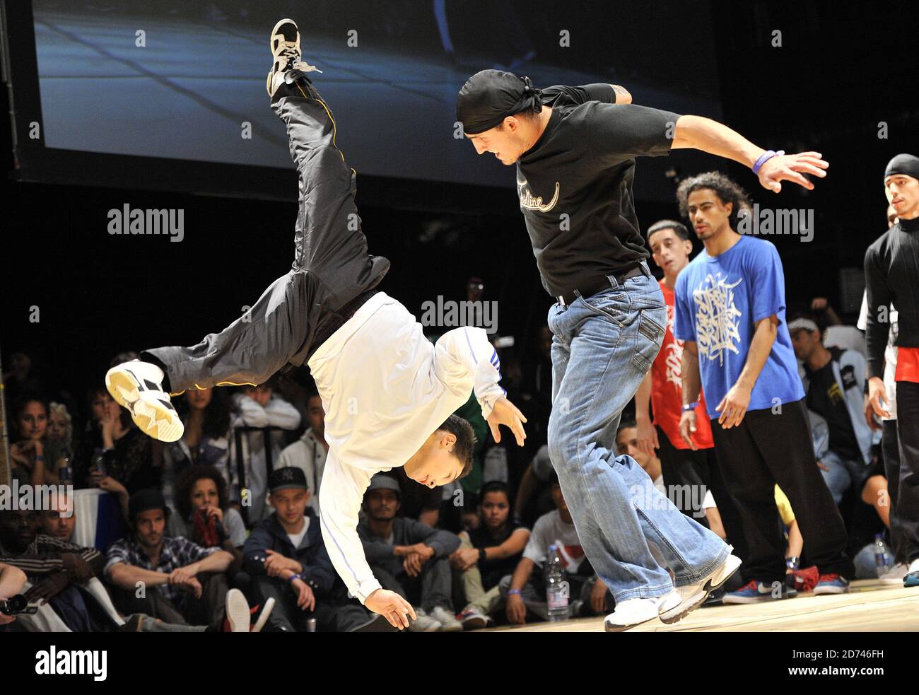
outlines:
[[584, 553], [621, 602], [698, 582], [729, 548], [658, 492], [638, 461], [614, 455], [619, 416], [660, 350], [667, 310], [650, 273], [609, 281], [550, 308], [549, 451]]

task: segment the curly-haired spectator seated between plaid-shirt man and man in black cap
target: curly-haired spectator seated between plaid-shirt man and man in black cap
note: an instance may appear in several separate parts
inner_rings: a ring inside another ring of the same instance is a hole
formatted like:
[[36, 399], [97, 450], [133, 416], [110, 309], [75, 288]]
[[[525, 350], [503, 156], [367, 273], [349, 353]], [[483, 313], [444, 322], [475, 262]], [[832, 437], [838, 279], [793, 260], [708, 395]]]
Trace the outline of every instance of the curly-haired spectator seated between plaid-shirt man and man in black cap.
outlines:
[[176, 514], [169, 515], [170, 536], [184, 536], [202, 548], [220, 548], [233, 555], [227, 575], [243, 564], [245, 523], [228, 507], [226, 481], [214, 466], [196, 463], [176, 480]]

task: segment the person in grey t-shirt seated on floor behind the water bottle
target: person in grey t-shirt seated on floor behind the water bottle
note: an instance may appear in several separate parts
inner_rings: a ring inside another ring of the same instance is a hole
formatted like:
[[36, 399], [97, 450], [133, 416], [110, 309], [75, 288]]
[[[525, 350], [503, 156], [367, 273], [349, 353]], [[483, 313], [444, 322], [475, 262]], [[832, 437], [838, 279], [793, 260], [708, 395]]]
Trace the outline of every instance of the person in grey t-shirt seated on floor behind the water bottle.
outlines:
[[505, 598], [507, 620], [516, 624], [527, 620], [528, 611], [540, 620], [549, 620], [543, 572], [550, 545], [555, 545], [562, 556], [565, 580], [570, 587], [569, 618], [600, 615], [614, 607], [612, 594], [584, 555], [557, 473], [552, 473], [551, 484], [555, 510], [537, 519], [514, 574], [505, 576], [499, 585]]

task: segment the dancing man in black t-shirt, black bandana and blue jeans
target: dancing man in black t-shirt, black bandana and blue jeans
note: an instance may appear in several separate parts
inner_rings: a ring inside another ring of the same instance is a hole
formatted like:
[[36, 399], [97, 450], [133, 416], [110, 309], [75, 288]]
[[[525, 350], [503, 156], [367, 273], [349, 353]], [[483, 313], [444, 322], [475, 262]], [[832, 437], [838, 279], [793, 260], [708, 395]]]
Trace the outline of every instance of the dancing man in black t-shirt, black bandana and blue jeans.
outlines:
[[[539, 90], [528, 77], [496, 70], [473, 75], [457, 101], [476, 152], [516, 164], [542, 283], [558, 301], [549, 313], [550, 456], [584, 551], [616, 598], [606, 621], [612, 632], [659, 615], [678, 621], [740, 564], [715, 534], [657, 499], [631, 457], [613, 454], [619, 415], [667, 325], [635, 214], [635, 158], [695, 148], [752, 166], [776, 192], [782, 181], [813, 188], [803, 175], [823, 177], [828, 166], [819, 153], [767, 152], [713, 120], [627, 101], [616, 85]], [[738, 392], [725, 407], [736, 415], [748, 404]]]

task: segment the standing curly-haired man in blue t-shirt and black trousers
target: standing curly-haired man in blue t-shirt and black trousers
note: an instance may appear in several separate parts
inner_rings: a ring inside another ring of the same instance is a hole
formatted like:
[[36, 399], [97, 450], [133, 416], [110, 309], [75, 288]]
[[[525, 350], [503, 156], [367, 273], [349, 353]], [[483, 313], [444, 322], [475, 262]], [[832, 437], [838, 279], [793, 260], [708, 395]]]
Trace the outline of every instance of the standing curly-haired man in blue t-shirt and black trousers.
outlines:
[[804, 389], [785, 321], [776, 247], [735, 232], [746, 194], [716, 172], [687, 178], [676, 197], [705, 250], [676, 279], [674, 335], [684, 340], [680, 435], [690, 446], [699, 388], [724, 482], [750, 546], [740, 591], [725, 603], [785, 598], [785, 542], [776, 484], [789, 497], [820, 571], [815, 594], [848, 591], [845, 525], [811, 447]]

